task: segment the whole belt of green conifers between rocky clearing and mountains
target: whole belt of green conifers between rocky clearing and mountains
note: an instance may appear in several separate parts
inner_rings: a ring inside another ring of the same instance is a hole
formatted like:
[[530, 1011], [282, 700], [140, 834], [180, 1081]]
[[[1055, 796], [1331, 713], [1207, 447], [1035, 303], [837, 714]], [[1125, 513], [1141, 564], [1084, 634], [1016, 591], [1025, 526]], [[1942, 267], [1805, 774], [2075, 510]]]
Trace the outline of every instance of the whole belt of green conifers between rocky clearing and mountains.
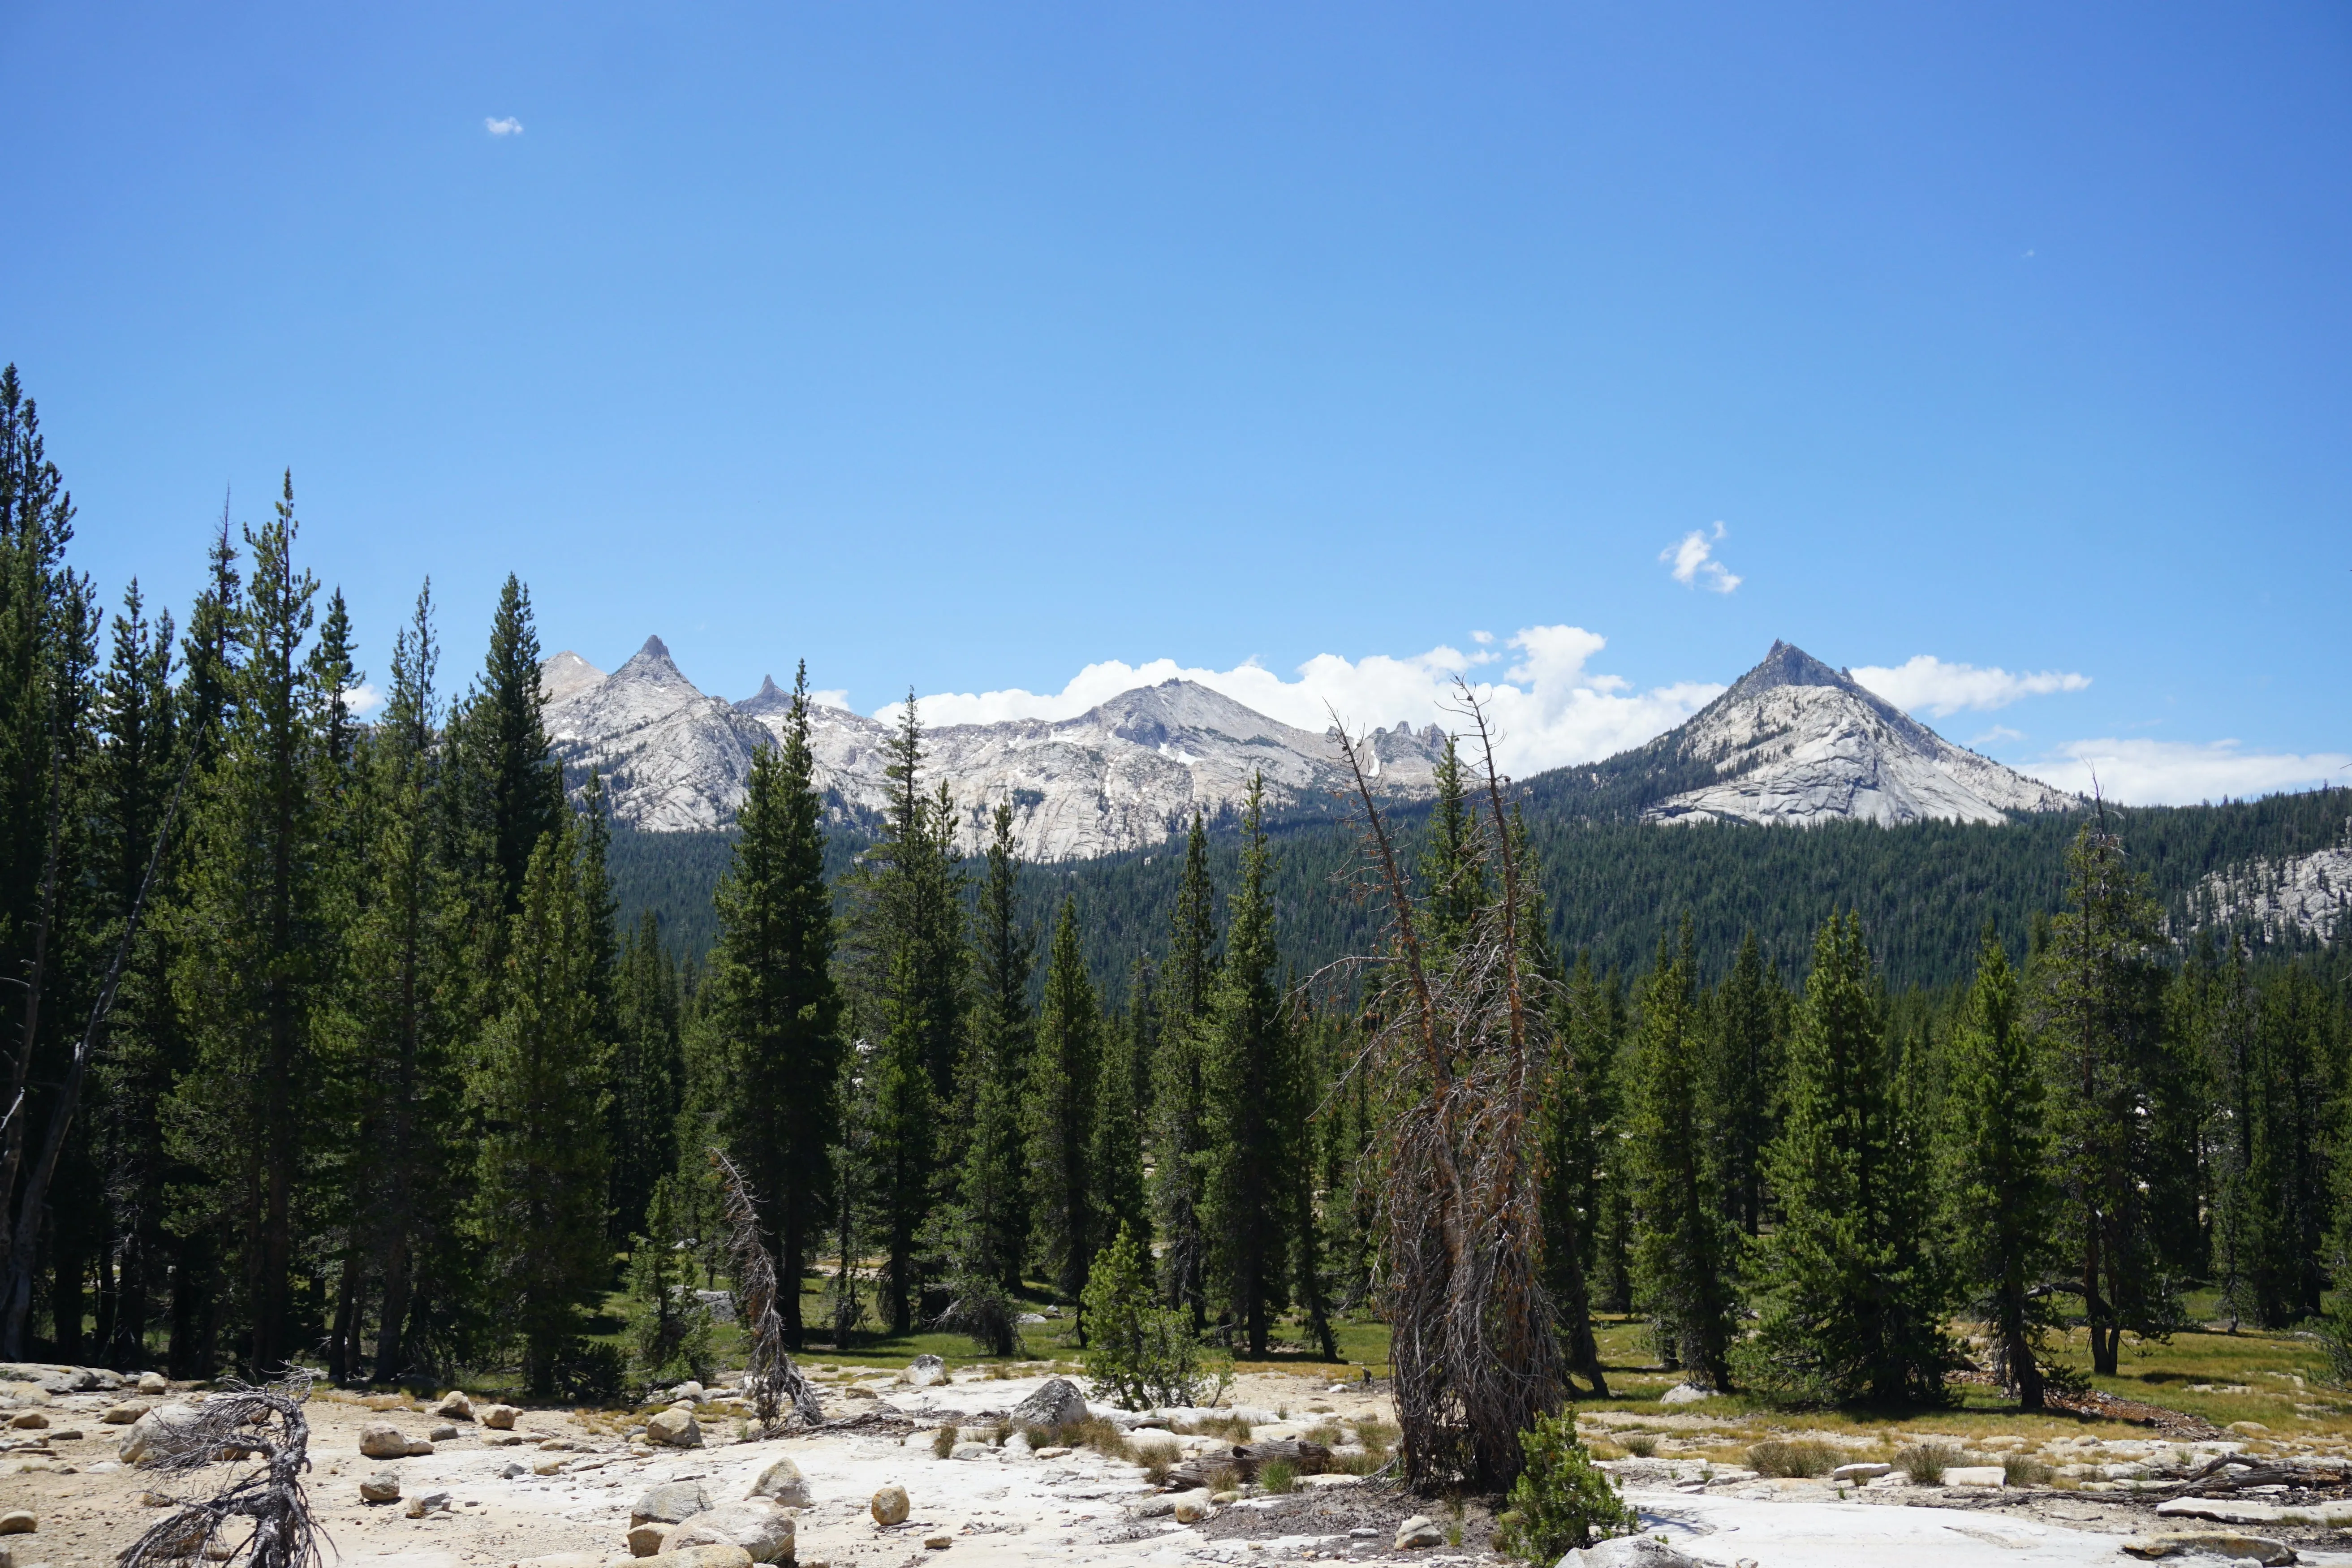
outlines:
[[1465, 712], [1428, 806], [1030, 865], [1004, 806], [957, 846], [915, 705], [882, 825], [828, 816], [804, 668], [736, 827], [659, 842], [555, 759], [520, 576], [355, 625], [292, 475], [200, 550], [101, 592], [7, 371], [5, 1361], [708, 1373], [713, 1152], [788, 1349], [1378, 1342], [1416, 1479], [1482, 1488], [1604, 1321], [1792, 1403], [2039, 1408], [2213, 1314], [2352, 1356], [2343, 938], [2166, 870], [2343, 792], [1658, 830]]

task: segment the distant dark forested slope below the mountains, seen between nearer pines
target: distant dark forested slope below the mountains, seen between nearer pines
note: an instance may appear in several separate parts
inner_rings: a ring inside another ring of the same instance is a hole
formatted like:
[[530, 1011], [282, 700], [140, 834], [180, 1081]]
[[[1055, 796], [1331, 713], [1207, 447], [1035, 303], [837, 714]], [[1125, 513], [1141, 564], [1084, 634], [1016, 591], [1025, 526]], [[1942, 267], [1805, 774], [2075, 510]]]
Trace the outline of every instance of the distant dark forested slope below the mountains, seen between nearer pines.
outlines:
[[[2058, 910], [2065, 849], [2079, 825], [2077, 816], [2027, 816], [2002, 825], [1661, 827], [1571, 813], [1555, 778], [1538, 776], [1522, 792], [1552, 940], [1628, 973], [1649, 961], [1661, 931], [1689, 914], [1703, 973], [1729, 969], [1752, 931], [1769, 959], [1795, 976], [1820, 922], [1856, 910], [1891, 985], [1955, 985], [1973, 969], [1976, 931], [1985, 919], [2023, 931], [2037, 912]], [[2209, 872], [2338, 842], [2352, 818], [2352, 790], [2112, 809], [2110, 816], [2133, 865], [2150, 875], [2169, 926], [2187, 931], [2209, 922], [2197, 900]], [[1402, 809], [1395, 820], [1416, 837], [1425, 832], [1428, 809]], [[1275, 823], [1270, 837], [1284, 964], [1315, 971], [1364, 952], [1371, 922], [1348, 891], [1357, 865], [1355, 830], [1312, 818]], [[837, 875], [851, 853], [847, 837], [835, 839], [828, 870]], [[1209, 858], [1221, 879], [1230, 879], [1237, 856], [1232, 825], [1211, 825]], [[708, 950], [715, 933], [710, 889], [724, 863], [727, 835], [614, 835], [614, 891], [623, 912], [656, 910], [680, 952]], [[1103, 985], [1120, 987], [1136, 952], [1164, 945], [1176, 872], [1169, 849], [1030, 865], [1021, 879], [1023, 907], [1042, 919], [1073, 893], [1087, 917], [1087, 964]]]

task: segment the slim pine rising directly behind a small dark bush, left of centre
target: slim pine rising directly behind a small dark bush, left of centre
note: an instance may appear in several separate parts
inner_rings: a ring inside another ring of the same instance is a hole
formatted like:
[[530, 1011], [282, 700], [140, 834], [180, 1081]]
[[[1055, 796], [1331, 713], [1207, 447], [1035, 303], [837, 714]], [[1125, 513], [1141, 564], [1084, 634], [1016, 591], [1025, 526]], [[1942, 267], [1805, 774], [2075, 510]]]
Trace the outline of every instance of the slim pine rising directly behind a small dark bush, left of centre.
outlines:
[[1028, 1086], [1030, 971], [1035, 936], [1021, 924], [1021, 853], [1011, 802], [997, 802], [988, 839], [988, 877], [974, 931], [971, 1046], [960, 1098], [971, 1107], [971, 1135], [957, 1175], [960, 1265], [1002, 1291], [1021, 1288], [1028, 1258]]

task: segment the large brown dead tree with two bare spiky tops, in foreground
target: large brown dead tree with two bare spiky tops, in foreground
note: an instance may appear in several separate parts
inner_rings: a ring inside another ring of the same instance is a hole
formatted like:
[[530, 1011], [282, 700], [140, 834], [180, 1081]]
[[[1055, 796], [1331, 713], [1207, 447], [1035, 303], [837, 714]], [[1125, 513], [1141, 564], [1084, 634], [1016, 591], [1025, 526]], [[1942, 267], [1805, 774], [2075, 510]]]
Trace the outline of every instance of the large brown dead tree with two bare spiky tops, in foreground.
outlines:
[[1414, 893], [1338, 726], [1364, 811], [1364, 860], [1388, 907], [1364, 1067], [1392, 1107], [1383, 1128], [1383, 1272], [1404, 1476], [1428, 1490], [1503, 1490], [1524, 1467], [1519, 1432], [1557, 1410], [1566, 1368], [1543, 1288], [1536, 1107], [1550, 1044], [1543, 980], [1526, 961], [1526, 870], [1503, 809], [1486, 715], [1477, 853], [1494, 896], [1444, 952], [1414, 922]]

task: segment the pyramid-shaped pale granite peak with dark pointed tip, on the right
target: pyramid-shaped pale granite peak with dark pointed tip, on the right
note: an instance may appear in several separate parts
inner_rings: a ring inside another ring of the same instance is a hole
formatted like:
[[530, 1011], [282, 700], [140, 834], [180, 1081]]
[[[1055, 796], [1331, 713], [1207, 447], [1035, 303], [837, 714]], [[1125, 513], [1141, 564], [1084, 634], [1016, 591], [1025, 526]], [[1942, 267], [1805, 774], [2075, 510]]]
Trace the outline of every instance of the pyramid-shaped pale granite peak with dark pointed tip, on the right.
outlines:
[[2084, 804], [1952, 745], [1785, 642], [1642, 752], [1717, 771], [1712, 783], [1646, 806], [1649, 823], [2004, 823], [2016, 811]]

